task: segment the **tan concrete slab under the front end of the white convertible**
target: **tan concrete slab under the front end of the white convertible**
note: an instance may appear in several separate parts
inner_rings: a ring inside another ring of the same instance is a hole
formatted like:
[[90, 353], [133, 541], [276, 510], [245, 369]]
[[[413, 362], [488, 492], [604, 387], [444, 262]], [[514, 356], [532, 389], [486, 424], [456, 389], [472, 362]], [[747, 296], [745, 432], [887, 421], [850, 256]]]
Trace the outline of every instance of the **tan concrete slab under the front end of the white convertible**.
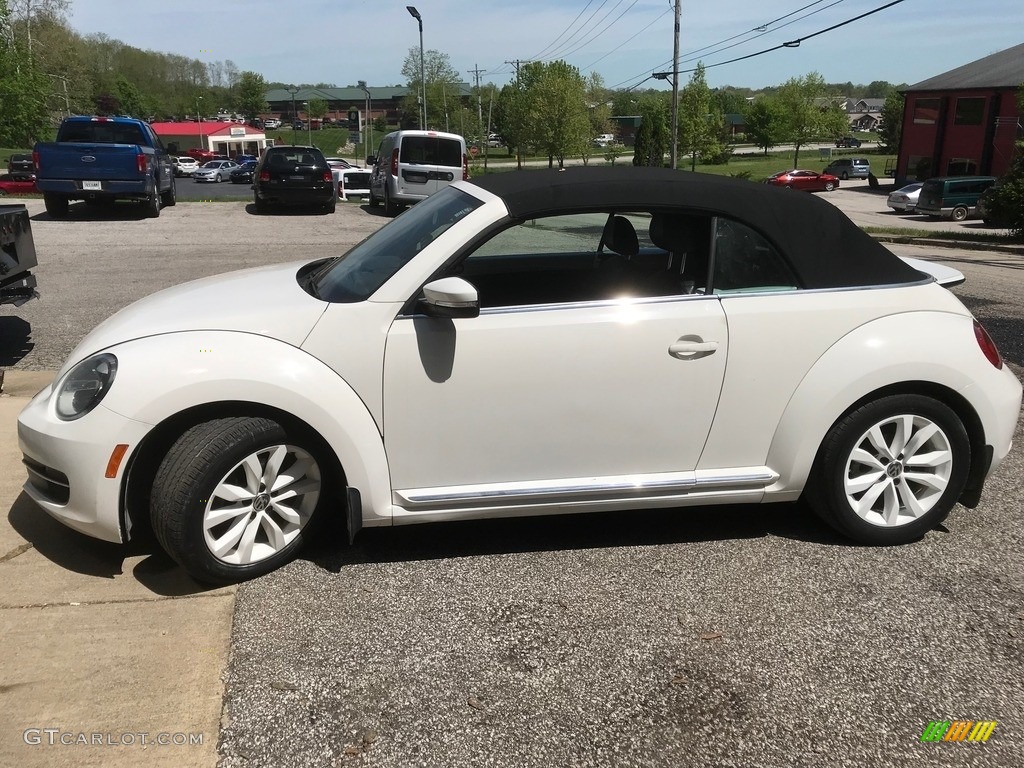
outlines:
[[212, 768], [234, 589], [22, 493], [17, 414], [51, 378], [7, 371], [0, 393], [0, 765]]

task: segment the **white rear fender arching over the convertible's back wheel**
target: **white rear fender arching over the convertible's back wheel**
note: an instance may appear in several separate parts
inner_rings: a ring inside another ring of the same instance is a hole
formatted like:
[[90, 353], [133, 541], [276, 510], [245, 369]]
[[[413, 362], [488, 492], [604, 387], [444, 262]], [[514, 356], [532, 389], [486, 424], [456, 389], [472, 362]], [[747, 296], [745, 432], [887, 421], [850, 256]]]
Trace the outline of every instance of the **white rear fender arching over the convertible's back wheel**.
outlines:
[[958, 393], [991, 442], [990, 432], [1000, 432], [1000, 409], [987, 395], [993, 388], [1007, 389], [1005, 374], [979, 349], [970, 315], [904, 312], [860, 326], [817, 359], [790, 399], [768, 451], [767, 464], [779, 474], [768, 493], [799, 493], [833, 424], [851, 406], [887, 387], [912, 390], [914, 383], [925, 382]]

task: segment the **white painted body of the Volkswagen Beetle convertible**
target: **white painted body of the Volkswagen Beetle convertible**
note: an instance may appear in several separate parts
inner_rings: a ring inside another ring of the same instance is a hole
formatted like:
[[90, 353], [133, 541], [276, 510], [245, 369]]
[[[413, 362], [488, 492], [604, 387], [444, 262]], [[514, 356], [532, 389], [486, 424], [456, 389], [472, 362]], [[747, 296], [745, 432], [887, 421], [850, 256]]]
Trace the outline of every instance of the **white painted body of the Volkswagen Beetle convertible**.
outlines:
[[[162, 291], [102, 323], [20, 415], [26, 493], [71, 527], [124, 541], [146, 514], [129, 487], [143, 472], [140, 446], [218, 410], [314, 430], [343, 468], [353, 535], [793, 501], [853, 403], [920, 382], [974, 414], [986, 473], [1010, 450], [1021, 385], [979, 351], [971, 313], [923, 274], [868, 290], [611, 298], [450, 319], [414, 311], [417, 295], [456, 312], [472, 304], [469, 282], [435, 276], [509, 214], [498, 195], [454, 186], [446, 196], [477, 207], [366, 300], [314, 298], [296, 280], [301, 265], [285, 264]], [[116, 355], [114, 384], [81, 418], [58, 417], [69, 373], [99, 353]]]

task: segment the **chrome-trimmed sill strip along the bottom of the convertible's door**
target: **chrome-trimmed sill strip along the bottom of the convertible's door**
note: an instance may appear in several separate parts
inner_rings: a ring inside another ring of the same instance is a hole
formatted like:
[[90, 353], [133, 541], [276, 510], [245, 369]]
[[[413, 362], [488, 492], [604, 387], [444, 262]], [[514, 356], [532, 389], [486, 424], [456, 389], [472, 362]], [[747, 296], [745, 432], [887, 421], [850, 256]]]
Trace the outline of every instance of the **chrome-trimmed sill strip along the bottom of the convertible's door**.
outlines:
[[728, 472], [715, 470], [568, 477], [553, 480], [406, 488], [394, 492], [394, 503], [407, 509], [416, 509], [437, 506], [544, 504], [589, 499], [644, 499], [711, 489], [740, 490], [763, 487], [777, 479], [778, 475], [767, 467]]

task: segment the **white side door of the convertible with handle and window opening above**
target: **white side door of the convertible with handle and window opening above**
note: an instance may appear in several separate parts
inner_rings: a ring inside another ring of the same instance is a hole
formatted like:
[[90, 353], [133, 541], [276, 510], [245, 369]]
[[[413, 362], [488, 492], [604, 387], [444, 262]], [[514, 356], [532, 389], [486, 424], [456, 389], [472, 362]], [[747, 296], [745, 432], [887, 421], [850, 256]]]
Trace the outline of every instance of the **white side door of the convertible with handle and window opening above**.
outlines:
[[556, 218], [511, 227], [458, 267], [480, 287], [479, 316], [410, 310], [391, 326], [384, 442], [399, 506], [692, 479], [725, 374], [720, 301], [591, 291], [600, 220]]

